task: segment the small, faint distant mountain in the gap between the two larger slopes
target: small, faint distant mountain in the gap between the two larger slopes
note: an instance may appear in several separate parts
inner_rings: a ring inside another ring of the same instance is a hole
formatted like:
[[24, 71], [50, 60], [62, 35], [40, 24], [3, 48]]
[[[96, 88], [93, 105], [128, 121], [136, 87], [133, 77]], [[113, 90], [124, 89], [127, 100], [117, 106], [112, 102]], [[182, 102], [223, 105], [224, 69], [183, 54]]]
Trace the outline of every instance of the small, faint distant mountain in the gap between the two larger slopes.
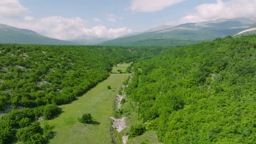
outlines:
[[107, 41], [109, 39], [107, 38], [84, 38], [84, 39], [71, 39], [68, 41], [71, 41], [73, 43], [79, 44], [79, 45], [96, 45], [98, 43], [102, 43], [103, 41]]

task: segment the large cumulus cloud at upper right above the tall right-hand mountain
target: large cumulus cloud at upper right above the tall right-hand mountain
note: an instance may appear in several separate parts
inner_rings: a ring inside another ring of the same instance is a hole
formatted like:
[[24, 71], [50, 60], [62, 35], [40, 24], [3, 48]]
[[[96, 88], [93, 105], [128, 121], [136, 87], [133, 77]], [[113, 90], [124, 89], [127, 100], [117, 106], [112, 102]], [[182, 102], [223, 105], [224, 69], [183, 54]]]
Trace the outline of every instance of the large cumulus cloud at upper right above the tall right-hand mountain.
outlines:
[[196, 12], [188, 14], [179, 20], [179, 23], [201, 22], [220, 18], [232, 19], [235, 17], [256, 16], [256, 0], [233, 0], [197, 5]]

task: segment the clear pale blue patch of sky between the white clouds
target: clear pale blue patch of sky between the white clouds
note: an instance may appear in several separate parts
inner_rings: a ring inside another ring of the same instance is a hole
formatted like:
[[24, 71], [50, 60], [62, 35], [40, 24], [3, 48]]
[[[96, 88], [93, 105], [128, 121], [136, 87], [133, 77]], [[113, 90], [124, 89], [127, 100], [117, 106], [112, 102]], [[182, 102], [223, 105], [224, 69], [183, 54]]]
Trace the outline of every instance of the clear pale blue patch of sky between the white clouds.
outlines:
[[[37, 18], [53, 15], [81, 17], [88, 20], [89, 27], [93, 27], [98, 24], [93, 20], [97, 17], [102, 20], [100, 23], [107, 27], [129, 27], [133, 31], [146, 31], [149, 28], [164, 25], [168, 21], [178, 20], [187, 13], [192, 12], [196, 5], [214, 3], [216, 1], [183, 1], [166, 9], [148, 13], [128, 10], [131, 2], [127, 0], [21, 0], [20, 2], [32, 12], [31, 16]], [[115, 22], [107, 21], [107, 16], [110, 14], [121, 19]]]

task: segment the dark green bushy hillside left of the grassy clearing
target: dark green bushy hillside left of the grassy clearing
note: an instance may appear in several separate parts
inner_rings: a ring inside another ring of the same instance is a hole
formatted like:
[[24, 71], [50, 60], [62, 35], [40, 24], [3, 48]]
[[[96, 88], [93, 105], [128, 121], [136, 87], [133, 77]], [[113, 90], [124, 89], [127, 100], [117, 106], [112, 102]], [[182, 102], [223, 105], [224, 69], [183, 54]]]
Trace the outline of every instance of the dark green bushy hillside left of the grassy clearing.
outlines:
[[[0, 143], [43, 143], [53, 136], [50, 119], [109, 76], [120, 62], [159, 53], [152, 47], [0, 45]], [[7, 111], [8, 112], [8, 111]]]

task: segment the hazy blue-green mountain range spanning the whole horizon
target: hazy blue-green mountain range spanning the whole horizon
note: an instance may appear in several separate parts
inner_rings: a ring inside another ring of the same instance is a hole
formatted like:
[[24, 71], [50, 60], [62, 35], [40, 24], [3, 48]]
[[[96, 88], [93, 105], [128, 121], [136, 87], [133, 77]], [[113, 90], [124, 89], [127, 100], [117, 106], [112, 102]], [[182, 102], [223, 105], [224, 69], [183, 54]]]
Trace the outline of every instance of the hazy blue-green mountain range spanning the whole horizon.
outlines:
[[[178, 26], [159, 26], [145, 32], [123, 35], [117, 39], [80, 38], [59, 40], [33, 32], [0, 24], [0, 43], [45, 44], [45, 45], [117, 45], [117, 46], [176, 46], [210, 41], [218, 37], [256, 33], [256, 17], [217, 19], [199, 23], [184, 23]], [[254, 29], [255, 28], [255, 29]]]

